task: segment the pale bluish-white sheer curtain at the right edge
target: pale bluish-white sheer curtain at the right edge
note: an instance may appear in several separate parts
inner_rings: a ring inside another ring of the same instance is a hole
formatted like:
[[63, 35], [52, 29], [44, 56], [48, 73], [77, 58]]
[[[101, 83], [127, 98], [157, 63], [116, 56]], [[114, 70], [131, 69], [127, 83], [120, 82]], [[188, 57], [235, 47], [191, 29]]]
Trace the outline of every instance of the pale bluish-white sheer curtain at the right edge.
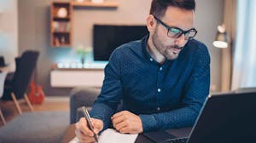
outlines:
[[231, 89], [256, 87], [256, 1], [238, 0]]

